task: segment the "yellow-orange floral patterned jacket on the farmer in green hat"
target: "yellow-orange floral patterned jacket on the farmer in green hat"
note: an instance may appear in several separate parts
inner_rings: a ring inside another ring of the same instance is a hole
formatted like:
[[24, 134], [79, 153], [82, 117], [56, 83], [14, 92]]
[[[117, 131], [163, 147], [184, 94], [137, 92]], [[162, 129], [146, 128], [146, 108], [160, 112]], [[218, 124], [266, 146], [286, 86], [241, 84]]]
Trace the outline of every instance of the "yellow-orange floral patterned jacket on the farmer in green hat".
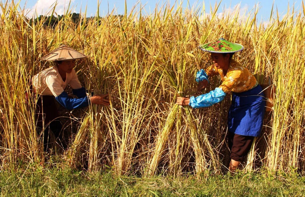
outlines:
[[219, 74], [221, 77], [222, 84], [219, 88], [225, 93], [232, 92], [244, 92], [248, 91], [258, 85], [256, 78], [253, 74], [244, 66], [231, 59], [230, 66], [227, 74], [224, 76], [222, 69], [217, 69], [216, 66], [209, 66], [205, 70], [208, 76]]

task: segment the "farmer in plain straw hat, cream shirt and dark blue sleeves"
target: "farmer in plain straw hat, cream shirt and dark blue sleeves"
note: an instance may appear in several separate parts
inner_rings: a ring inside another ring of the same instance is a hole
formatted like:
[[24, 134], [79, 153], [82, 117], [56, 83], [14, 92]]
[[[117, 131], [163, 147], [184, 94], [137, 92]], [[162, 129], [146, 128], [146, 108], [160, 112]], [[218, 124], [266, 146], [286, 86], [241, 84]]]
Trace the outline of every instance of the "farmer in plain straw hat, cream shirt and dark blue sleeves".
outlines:
[[[32, 78], [34, 92], [38, 95], [36, 124], [38, 128], [45, 127], [43, 140], [45, 151], [48, 149], [49, 131], [52, 131], [55, 138], [58, 138], [62, 130], [62, 125], [58, 120], [56, 101], [69, 111], [89, 106], [90, 103], [109, 105], [109, 100], [106, 98], [108, 95], [90, 97], [87, 95], [86, 89], [81, 86], [74, 70], [75, 60], [81, 58], [86, 58], [86, 56], [73, 48], [61, 45], [41, 58], [46, 61], [54, 61], [56, 65], [42, 70]], [[64, 91], [68, 84], [77, 98], [70, 98]], [[62, 146], [66, 148], [65, 144], [62, 144]]]

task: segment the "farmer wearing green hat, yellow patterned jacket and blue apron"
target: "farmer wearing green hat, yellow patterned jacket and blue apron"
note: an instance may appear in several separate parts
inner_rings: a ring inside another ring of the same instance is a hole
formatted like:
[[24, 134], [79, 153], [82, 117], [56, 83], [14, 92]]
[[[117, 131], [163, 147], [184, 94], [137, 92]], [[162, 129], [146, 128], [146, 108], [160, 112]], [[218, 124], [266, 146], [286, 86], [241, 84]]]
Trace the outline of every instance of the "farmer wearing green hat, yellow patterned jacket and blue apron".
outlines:
[[200, 91], [206, 88], [208, 77], [220, 75], [222, 84], [209, 93], [191, 98], [178, 97], [176, 104], [193, 108], [209, 107], [221, 102], [232, 92], [232, 103], [228, 112], [228, 146], [231, 151], [229, 170], [235, 172], [247, 156], [254, 137], [260, 135], [265, 113], [263, 90], [253, 74], [232, 59], [235, 52], [242, 51], [242, 45], [223, 38], [199, 46], [210, 52], [213, 65], [199, 70], [196, 75]]

